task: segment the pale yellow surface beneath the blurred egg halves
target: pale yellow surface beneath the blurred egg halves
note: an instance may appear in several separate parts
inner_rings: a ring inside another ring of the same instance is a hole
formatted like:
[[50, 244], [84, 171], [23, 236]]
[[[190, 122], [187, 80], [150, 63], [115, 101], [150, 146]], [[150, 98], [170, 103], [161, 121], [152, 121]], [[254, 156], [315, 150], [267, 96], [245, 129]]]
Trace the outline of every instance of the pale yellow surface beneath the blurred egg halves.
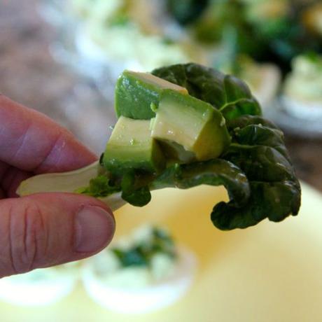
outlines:
[[225, 189], [160, 190], [148, 206], [116, 212], [116, 237], [161, 223], [196, 253], [195, 283], [179, 302], [150, 314], [116, 314], [92, 302], [79, 283], [47, 307], [0, 302], [0, 321], [321, 322], [322, 196], [304, 183], [302, 190], [297, 217], [230, 232], [214, 228], [209, 216], [227, 200]]

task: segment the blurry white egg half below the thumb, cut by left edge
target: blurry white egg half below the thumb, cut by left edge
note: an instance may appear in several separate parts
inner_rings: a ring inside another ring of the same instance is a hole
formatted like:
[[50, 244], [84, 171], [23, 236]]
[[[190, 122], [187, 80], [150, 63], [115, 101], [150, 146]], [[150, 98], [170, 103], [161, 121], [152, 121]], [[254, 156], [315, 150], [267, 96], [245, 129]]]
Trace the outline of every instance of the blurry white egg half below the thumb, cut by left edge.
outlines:
[[0, 300], [22, 306], [47, 305], [71, 293], [78, 281], [78, 262], [35, 269], [0, 279]]

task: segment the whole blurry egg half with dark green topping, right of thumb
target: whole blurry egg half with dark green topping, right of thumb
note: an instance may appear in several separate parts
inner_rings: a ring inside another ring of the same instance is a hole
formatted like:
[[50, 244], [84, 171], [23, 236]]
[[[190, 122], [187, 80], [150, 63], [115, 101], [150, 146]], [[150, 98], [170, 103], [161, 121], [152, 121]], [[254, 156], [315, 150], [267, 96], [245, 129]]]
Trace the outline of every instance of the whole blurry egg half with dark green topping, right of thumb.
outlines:
[[121, 313], [166, 307], [193, 281], [196, 258], [164, 228], [146, 225], [85, 262], [83, 283], [95, 302]]

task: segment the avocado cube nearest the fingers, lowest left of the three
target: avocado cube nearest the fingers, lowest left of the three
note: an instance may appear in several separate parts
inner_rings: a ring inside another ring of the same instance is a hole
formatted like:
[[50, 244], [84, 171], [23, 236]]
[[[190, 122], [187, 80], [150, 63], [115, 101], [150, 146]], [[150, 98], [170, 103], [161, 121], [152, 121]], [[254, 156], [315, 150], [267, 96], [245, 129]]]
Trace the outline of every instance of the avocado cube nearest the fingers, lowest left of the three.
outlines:
[[149, 120], [121, 116], [106, 145], [103, 165], [116, 175], [139, 169], [158, 173], [165, 167], [165, 157], [158, 142], [151, 137]]

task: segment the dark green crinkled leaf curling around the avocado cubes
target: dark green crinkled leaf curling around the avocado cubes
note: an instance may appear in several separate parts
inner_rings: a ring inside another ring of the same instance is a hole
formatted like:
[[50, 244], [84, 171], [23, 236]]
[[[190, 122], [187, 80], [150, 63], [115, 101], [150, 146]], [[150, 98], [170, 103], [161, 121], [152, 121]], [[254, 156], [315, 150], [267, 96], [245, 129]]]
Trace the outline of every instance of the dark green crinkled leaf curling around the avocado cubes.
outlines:
[[283, 133], [260, 116], [260, 106], [243, 81], [198, 64], [162, 67], [153, 74], [186, 87], [190, 95], [221, 111], [232, 143], [218, 159], [174, 164], [149, 178], [126, 174], [120, 188], [123, 199], [143, 206], [151, 200], [150, 190], [223, 185], [230, 201], [217, 204], [211, 214], [211, 221], [221, 230], [246, 228], [265, 218], [281, 221], [297, 214], [300, 184]]

